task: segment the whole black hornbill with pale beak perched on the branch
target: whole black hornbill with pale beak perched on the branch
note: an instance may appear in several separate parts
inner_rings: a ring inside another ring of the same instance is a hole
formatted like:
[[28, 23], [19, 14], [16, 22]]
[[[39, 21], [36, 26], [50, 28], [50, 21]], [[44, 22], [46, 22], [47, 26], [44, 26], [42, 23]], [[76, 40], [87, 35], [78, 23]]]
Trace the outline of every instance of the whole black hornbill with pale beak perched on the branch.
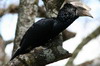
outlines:
[[34, 23], [23, 36], [20, 48], [15, 52], [14, 59], [20, 54], [30, 52], [38, 46], [44, 46], [49, 40], [56, 37], [60, 32], [72, 24], [79, 16], [90, 16], [87, 7], [78, 6], [74, 2], [66, 3], [56, 18], [41, 19]]

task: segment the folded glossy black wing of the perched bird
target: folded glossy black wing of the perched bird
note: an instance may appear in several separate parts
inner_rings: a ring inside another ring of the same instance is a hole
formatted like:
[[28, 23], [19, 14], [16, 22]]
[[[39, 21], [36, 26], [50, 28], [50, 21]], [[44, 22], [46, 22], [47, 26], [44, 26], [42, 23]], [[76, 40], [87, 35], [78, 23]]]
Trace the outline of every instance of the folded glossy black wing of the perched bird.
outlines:
[[48, 36], [52, 32], [53, 24], [53, 19], [42, 19], [34, 23], [23, 36], [20, 47], [26, 49], [28, 47], [35, 48], [39, 46], [39, 42], [49, 38]]

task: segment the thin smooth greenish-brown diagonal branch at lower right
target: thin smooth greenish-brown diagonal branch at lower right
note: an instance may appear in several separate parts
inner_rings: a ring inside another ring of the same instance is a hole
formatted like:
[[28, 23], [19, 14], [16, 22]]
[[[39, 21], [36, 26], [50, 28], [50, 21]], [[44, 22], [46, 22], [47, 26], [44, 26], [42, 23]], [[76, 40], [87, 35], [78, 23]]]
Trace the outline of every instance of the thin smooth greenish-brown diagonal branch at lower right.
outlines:
[[73, 61], [80, 52], [80, 50], [93, 38], [96, 38], [98, 35], [100, 35], [100, 26], [93, 31], [90, 35], [88, 35], [86, 38], [83, 39], [83, 41], [78, 45], [78, 47], [74, 50], [73, 56], [68, 60], [66, 66], [73, 66]]

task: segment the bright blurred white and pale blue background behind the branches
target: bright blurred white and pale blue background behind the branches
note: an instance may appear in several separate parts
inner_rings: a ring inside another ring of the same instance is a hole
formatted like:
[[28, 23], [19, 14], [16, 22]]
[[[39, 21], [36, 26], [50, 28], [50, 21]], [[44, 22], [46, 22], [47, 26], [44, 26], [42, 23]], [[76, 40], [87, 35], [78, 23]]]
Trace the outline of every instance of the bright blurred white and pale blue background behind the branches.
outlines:
[[[74, 38], [63, 43], [63, 48], [71, 53], [84, 38], [100, 27], [100, 0], [81, 1], [91, 8], [90, 13], [93, 19], [90, 17], [80, 17], [67, 28], [67, 30], [76, 33]], [[12, 54], [18, 19], [18, 5], [19, 0], [0, 0], [0, 66], [6, 63]], [[43, 6], [42, 0], [39, 0], [39, 6]], [[41, 18], [37, 17], [36, 21], [39, 19]], [[68, 59], [64, 59], [47, 66], [64, 66], [67, 61]], [[91, 63], [91, 61], [95, 62], [95, 64], [100, 63], [100, 34], [96, 38], [91, 39], [91, 41], [80, 50], [74, 60], [74, 64], [80, 65], [83, 63]]]

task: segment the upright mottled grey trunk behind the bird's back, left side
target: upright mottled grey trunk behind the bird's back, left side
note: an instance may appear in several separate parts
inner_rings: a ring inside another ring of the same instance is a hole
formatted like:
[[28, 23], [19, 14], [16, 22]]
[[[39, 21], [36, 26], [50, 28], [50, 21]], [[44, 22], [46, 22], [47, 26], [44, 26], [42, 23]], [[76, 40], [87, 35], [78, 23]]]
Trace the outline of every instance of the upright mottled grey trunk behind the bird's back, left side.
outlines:
[[20, 41], [27, 31], [27, 29], [35, 22], [37, 6], [34, 0], [20, 0], [18, 24], [16, 30], [16, 37], [14, 40], [14, 52], [18, 48]]

